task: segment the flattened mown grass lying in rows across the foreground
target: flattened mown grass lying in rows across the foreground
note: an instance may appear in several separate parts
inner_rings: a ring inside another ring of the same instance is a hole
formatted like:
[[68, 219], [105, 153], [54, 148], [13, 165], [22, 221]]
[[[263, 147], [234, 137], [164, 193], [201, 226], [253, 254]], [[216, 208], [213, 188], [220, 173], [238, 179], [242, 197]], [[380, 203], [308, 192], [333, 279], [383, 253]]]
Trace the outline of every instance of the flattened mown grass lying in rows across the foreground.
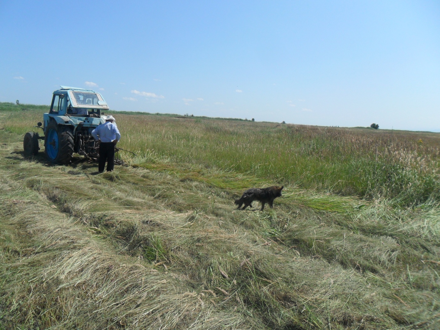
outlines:
[[[438, 266], [420, 262], [437, 260], [438, 246], [355, 224], [356, 199], [292, 188], [273, 210], [235, 211], [235, 190], [215, 175], [157, 164], [95, 175], [96, 164], [26, 160], [19, 136], [0, 140], [4, 328], [435, 329], [439, 320], [438, 279], [429, 280]], [[319, 209], [330, 198], [337, 206]]]

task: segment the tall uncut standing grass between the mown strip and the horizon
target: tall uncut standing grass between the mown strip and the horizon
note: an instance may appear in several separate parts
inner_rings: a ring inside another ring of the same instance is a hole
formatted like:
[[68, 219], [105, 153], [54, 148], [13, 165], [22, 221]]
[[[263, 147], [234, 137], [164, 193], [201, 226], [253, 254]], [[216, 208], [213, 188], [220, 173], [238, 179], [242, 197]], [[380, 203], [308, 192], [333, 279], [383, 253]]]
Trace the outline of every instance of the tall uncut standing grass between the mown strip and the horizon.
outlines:
[[[11, 132], [23, 134], [41, 120], [41, 109], [23, 116], [15, 105], [3, 105]], [[120, 146], [148, 163], [232, 169], [343, 195], [384, 196], [404, 206], [440, 201], [439, 133], [112, 114]]]

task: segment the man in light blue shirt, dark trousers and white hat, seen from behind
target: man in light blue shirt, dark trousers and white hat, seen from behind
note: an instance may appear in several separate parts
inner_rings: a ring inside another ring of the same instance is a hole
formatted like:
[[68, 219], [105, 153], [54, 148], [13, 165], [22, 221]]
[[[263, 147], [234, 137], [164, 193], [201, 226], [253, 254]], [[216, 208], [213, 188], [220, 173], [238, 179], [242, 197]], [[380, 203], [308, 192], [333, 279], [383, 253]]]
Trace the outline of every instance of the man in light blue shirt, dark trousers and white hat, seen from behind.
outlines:
[[92, 136], [99, 141], [99, 160], [98, 171], [104, 172], [104, 167], [107, 162], [107, 172], [114, 169], [114, 147], [117, 141], [121, 139], [121, 134], [114, 123], [113, 116], [107, 116], [106, 122], [99, 125], [92, 131]]

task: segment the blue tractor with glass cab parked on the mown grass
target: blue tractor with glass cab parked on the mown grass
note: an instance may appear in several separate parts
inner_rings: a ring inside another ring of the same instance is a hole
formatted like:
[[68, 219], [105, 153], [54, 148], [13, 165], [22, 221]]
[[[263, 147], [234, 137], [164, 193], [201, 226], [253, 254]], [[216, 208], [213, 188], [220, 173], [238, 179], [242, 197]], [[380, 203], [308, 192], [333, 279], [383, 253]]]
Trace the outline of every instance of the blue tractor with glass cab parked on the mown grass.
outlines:
[[37, 155], [38, 140], [44, 140], [46, 156], [53, 164], [70, 164], [74, 152], [97, 159], [99, 148], [91, 133], [106, 121], [102, 111], [108, 109], [98, 92], [61, 86], [53, 92], [50, 111], [43, 114], [43, 124], [35, 126], [43, 129], [44, 136], [37, 132], [25, 134], [25, 156]]

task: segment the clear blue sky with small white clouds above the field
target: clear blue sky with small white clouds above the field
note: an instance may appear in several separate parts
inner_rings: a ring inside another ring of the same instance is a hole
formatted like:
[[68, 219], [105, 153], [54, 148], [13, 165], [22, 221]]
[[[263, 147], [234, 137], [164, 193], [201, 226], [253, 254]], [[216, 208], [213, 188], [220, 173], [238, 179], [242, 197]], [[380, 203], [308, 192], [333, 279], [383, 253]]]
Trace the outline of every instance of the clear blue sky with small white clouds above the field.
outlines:
[[439, 1], [0, 0], [0, 102], [440, 131]]

